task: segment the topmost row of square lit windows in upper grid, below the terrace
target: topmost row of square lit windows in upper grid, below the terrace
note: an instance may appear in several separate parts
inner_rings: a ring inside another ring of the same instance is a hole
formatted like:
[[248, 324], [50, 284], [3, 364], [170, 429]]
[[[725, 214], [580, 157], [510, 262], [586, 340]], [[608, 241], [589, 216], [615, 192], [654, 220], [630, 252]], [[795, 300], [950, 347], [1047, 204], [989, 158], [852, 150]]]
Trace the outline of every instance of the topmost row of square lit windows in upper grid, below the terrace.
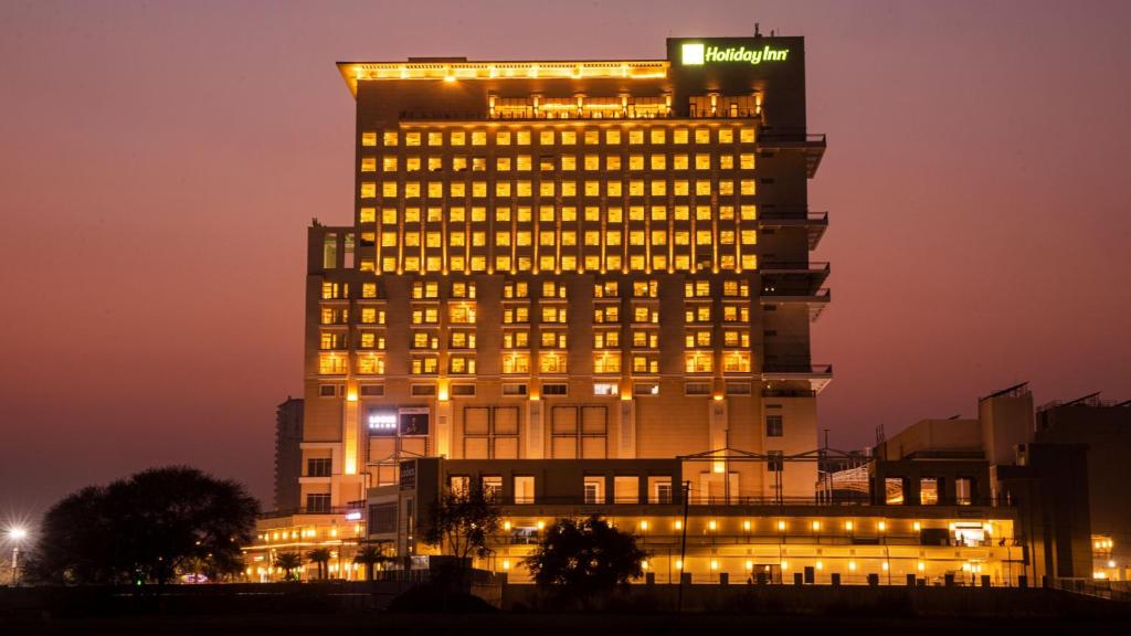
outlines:
[[[493, 135], [491, 135], [493, 132]], [[575, 146], [578, 143], [585, 145], [596, 145], [602, 143], [602, 132], [604, 132], [605, 144], [620, 144], [623, 139], [627, 139], [630, 145], [637, 146], [645, 143], [645, 139], [649, 144], [676, 144], [683, 145], [689, 144], [694, 140], [696, 144], [733, 144], [737, 140], [741, 144], [753, 144], [757, 137], [757, 130], [753, 126], [743, 126], [741, 128], [734, 127], [720, 127], [716, 129], [711, 128], [671, 128], [666, 126], [655, 126], [655, 127], [633, 127], [628, 130], [622, 130], [621, 128], [606, 128], [604, 130], [588, 129], [588, 130], [575, 130], [575, 129], [554, 129], [554, 128], [541, 128], [537, 131], [521, 128], [518, 130], [507, 130], [497, 129], [493, 131], [489, 130], [431, 130], [431, 131], [416, 131], [407, 130], [402, 134], [397, 130], [386, 130], [380, 135], [381, 144], [386, 147], [394, 147], [400, 145], [402, 138], [406, 146], [486, 146], [493, 137], [494, 145], [497, 146], [529, 146], [537, 139], [541, 146]], [[373, 130], [366, 130], [361, 134], [361, 145], [364, 147], [377, 146], [378, 134]]]

